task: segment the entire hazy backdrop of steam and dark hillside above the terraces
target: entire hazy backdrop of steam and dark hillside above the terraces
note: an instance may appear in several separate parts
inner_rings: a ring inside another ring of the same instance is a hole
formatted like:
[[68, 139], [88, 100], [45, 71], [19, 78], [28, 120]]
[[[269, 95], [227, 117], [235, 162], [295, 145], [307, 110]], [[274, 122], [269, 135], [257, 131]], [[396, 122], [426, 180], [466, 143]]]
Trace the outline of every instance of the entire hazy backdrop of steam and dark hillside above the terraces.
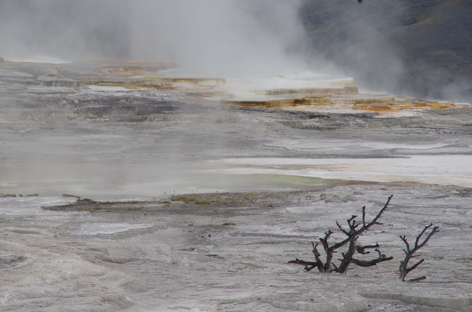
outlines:
[[470, 0], [2, 0], [0, 56], [312, 70], [362, 90], [472, 101]]

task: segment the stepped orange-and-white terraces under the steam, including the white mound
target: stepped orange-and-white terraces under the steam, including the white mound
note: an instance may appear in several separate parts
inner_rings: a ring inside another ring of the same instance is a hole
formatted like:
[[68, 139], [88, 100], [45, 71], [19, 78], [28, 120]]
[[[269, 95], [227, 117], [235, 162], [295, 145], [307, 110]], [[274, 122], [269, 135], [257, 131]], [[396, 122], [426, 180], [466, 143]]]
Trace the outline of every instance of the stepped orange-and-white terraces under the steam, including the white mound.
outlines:
[[260, 107], [295, 110], [365, 110], [392, 114], [399, 109], [468, 107], [456, 101], [424, 101], [381, 93], [359, 93], [350, 77], [312, 72], [263, 78], [207, 76], [165, 62], [110, 62], [101, 67], [102, 77], [84, 81], [97, 86], [181, 90], [186, 98], [203, 106]]

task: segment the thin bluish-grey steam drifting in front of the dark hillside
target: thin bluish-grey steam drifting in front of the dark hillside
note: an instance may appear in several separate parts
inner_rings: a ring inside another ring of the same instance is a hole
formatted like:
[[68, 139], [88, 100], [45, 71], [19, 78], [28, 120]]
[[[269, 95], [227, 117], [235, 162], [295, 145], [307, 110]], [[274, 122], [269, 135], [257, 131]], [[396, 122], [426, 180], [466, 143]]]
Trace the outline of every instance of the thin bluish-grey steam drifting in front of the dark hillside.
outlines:
[[[399, 1], [391, 0], [387, 6], [396, 5]], [[308, 29], [312, 67], [322, 68], [328, 63], [331, 71], [342, 68], [363, 91], [395, 89], [404, 72], [401, 50], [387, 37], [379, 36], [379, 29], [388, 28], [388, 23], [400, 17], [389, 16], [387, 21], [373, 17], [372, 7], [376, 6], [378, 3], [354, 0], [304, 1], [300, 15]]]

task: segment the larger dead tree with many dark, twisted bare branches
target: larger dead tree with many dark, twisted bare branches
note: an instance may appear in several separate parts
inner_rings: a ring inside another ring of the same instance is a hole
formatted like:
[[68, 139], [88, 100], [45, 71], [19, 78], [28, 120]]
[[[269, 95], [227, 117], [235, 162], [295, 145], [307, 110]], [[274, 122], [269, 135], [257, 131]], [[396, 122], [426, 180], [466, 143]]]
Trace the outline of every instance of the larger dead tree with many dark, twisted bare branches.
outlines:
[[[363, 231], [369, 230], [369, 228], [372, 225], [383, 224], [383, 223], [379, 223], [378, 220], [380, 216], [382, 215], [382, 213], [387, 209], [388, 203], [390, 202], [390, 199], [392, 197], [393, 195], [388, 197], [387, 203], [384, 205], [382, 209], [380, 209], [379, 213], [377, 213], [375, 218], [369, 223], [366, 223], [365, 221], [365, 206], [362, 207], [362, 223], [360, 222], [356, 223], [356, 220], [355, 220], [355, 218], [357, 218], [356, 215], [351, 216], [351, 218], [347, 220], [347, 224], [349, 226], [348, 230], [343, 229], [342, 225], [336, 222], [338, 229], [341, 230], [341, 232], [343, 232], [347, 236], [347, 238], [342, 240], [341, 242], [336, 243], [332, 246], [329, 246], [328, 238], [331, 236], [331, 234], [333, 234], [333, 232], [331, 230], [328, 230], [327, 232], [325, 232], [324, 238], [322, 237], [319, 238], [321, 245], [323, 246], [323, 249], [326, 253], [326, 261], [324, 263], [320, 260], [320, 253], [318, 252], [316, 248], [318, 246], [318, 243], [316, 243], [315, 245], [313, 242], [312, 242], [313, 254], [315, 255], [316, 262], [303, 261], [298, 258], [295, 258], [295, 260], [289, 261], [288, 263], [297, 263], [297, 264], [305, 265], [306, 271], [310, 271], [313, 268], [317, 267], [318, 271], [322, 273], [329, 273], [332, 271], [336, 271], [338, 273], [345, 273], [347, 270], [349, 270], [349, 264], [351, 263], [355, 263], [360, 266], [372, 266], [372, 265], [376, 265], [379, 262], [392, 260], [393, 257], [387, 257], [385, 255], [382, 255], [378, 249], [375, 249], [375, 250], [378, 251], [379, 258], [372, 259], [370, 261], [359, 260], [359, 259], [353, 258], [353, 255], [356, 250], [358, 253], [365, 255], [365, 254], [370, 253], [370, 252], [366, 252], [365, 249], [379, 247], [379, 244], [371, 245], [371, 246], [356, 246], [356, 242], [357, 242], [357, 239], [359, 238], [359, 235], [362, 234]], [[341, 264], [338, 267], [336, 264], [332, 262], [333, 254], [337, 252], [336, 249], [342, 246], [345, 246], [348, 243], [349, 243], [349, 247], [348, 247], [347, 252], [342, 253], [342, 256], [343, 256], [342, 259], [338, 259], [341, 261]]]

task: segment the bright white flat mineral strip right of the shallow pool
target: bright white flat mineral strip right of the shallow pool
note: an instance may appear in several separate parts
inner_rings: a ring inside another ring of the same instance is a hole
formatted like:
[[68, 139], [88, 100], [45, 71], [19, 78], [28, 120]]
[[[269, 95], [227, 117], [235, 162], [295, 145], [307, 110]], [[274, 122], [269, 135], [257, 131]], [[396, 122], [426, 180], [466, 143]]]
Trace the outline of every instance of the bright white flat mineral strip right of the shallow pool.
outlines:
[[376, 159], [233, 158], [226, 164], [243, 168], [216, 172], [287, 174], [325, 179], [418, 182], [472, 187], [470, 155], [413, 155]]

